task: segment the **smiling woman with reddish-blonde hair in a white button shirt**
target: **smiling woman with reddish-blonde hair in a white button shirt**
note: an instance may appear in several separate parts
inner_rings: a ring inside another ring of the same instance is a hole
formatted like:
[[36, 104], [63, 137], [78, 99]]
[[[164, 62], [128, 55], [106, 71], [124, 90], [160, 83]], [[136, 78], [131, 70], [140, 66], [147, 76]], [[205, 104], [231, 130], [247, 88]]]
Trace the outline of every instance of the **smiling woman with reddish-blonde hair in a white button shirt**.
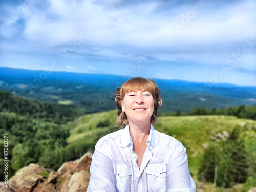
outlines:
[[196, 191], [186, 149], [152, 125], [162, 105], [159, 92], [141, 77], [117, 89], [117, 123], [125, 128], [97, 142], [87, 191]]

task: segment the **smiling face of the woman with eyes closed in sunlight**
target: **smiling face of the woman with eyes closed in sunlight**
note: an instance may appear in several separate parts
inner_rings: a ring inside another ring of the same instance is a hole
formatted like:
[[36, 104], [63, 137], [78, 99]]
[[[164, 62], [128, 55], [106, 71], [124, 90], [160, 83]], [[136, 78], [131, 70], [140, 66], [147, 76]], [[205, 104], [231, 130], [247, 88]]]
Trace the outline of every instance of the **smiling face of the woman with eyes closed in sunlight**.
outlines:
[[122, 111], [127, 115], [129, 122], [133, 123], [150, 122], [154, 108], [154, 98], [146, 90], [126, 93], [122, 101]]

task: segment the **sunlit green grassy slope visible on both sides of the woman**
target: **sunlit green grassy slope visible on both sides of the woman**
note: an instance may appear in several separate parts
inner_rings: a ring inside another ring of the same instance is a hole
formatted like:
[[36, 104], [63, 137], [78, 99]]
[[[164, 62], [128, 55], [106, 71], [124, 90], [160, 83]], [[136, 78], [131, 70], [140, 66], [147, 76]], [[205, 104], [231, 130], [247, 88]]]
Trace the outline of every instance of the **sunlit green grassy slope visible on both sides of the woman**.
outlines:
[[[95, 141], [110, 132], [118, 130], [115, 125], [117, 110], [89, 114], [70, 122], [65, 127], [70, 130], [68, 142], [74, 144], [80, 140]], [[99, 121], [109, 120], [111, 126], [96, 128]], [[256, 126], [256, 121], [238, 119], [233, 116], [164, 116], [159, 117], [154, 124], [156, 130], [175, 137], [187, 148], [190, 173], [197, 180], [196, 175], [203, 155], [204, 147], [214, 143], [210, 137], [230, 132], [234, 126], [241, 123]]]

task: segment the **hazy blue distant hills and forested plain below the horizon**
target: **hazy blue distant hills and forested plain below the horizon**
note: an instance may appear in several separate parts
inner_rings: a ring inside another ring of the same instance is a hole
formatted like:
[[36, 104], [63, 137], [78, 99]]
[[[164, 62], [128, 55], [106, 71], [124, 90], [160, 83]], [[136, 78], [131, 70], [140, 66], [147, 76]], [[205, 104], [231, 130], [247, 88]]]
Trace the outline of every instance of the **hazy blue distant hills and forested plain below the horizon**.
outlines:
[[[87, 111], [115, 109], [114, 94], [127, 76], [38, 71], [0, 67], [0, 90], [59, 104], [73, 104]], [[256, 105], [256, 86], [228, 83], [153, 79], [161, 90], [160, 112], [188, 111], [238, 105]]]

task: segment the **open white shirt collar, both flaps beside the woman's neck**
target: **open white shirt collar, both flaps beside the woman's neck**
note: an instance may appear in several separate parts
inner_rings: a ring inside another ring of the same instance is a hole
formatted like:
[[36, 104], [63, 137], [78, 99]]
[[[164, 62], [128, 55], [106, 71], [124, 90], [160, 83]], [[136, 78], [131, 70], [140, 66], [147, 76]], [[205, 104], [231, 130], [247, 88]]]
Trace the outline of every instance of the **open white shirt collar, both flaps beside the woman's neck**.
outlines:
[[[129, 145], [129, 143], [131, 143], [133, 145], [133, 140], [130, 135], [129, 125], [126, 125], [123, 130], [123, 135], [121, 137], [120, 146], [126, 147]], [[150, 152], [151, 152], [150, 146], [152, 146], [153, 148], [155, 147], [155, 129], [152, 124], [150, 125], [150, 135], [148, 135], [146, 145], [147, 145], [148, 150], [150, 150]]]

